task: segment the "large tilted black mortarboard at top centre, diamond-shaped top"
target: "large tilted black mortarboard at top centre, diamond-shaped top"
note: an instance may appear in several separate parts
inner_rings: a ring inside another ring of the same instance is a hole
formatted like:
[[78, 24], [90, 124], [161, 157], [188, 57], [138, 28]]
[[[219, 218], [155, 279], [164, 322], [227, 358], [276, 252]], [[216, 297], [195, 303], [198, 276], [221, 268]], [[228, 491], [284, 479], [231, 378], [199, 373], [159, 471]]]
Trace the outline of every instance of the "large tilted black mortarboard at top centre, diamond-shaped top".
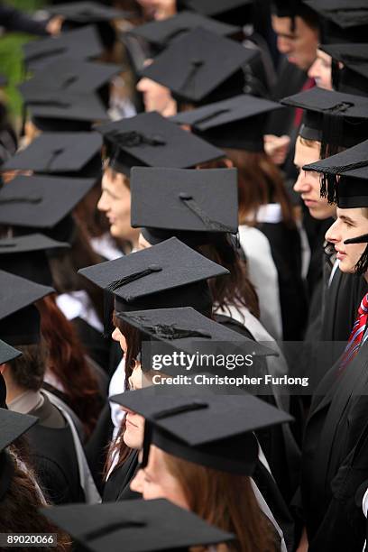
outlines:
[[243, 68], [257, 55], [214, 32], [194, 29], [170, 44], [141, 74], [170, 88], [179, 101], [207, 104], [241, 94]]

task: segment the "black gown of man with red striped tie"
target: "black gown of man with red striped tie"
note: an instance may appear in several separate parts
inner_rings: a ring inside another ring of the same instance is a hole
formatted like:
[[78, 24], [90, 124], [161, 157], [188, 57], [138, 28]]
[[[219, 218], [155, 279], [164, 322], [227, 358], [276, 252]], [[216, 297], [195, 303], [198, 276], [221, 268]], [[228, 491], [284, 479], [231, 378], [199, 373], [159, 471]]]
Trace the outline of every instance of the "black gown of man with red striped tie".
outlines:
[[[368, 455], [356, 460], [368, 432], [368, 344], [320, 382], [303, 446], [301, 496], [309, 552], [362, 550], [364, 518], [354, 495], [368, 479]], [[344, 514], [343, 514], [344, 512]]]

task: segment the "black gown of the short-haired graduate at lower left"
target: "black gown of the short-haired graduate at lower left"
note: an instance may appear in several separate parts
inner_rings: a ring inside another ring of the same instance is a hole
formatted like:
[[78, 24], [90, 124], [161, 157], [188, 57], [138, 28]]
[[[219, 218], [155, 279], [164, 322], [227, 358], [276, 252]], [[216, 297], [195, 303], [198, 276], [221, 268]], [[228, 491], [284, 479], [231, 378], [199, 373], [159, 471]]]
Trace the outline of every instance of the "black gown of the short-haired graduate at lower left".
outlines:
[[54, 504], [83, 502], [78, 461], [68, 422], [47, 396], [38, 409], [28, 412], [39, 419], [27, 437], [30, 460], [45, 496]]

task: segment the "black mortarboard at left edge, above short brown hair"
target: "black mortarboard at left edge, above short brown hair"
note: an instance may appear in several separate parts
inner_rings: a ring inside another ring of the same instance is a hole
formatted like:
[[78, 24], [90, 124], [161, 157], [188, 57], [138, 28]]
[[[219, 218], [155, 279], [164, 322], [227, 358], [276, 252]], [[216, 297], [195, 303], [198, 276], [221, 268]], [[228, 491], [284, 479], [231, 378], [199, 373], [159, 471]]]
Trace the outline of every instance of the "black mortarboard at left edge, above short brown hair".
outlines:
[[32, 303], [54, 290], [0, 271], [0, 336], [11, 345], [40, 341], [40, 314]]

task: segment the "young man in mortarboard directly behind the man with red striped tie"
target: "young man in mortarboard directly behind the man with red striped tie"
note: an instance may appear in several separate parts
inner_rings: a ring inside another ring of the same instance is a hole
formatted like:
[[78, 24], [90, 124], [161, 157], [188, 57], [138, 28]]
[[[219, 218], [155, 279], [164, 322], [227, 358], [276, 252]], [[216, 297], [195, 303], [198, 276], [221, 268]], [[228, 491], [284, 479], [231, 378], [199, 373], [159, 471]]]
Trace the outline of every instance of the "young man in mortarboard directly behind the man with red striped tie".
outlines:
[[[323, 262], [322, 246], [336, 207], [333, 205], [333, 198], [327, 198], [327, 190], [320, 189], [319, 175], [304, 171], [303, 166], [362, 142], [368, 135], [368, 103], [363, 97], [317, 87], [284, 98], [282, 103], [304, 109], [294, 160], [299, 169], [299, 179], [294, 189], [303, 199], [308, 214], [317, 222], [315, 225], [317, 232], [314, 233], [310, 233], [309, 226], [306, 225], [312, 253], [308, 270], [308, 287], [315, 298], [310, 310], [309, 328], [315, 322], [317, 323], [317, 327], [315, 326], [313, 330], [314, 339], [317, 341], [321, 339], [330, 342], [344, 341], [349, 336], [350, 327], [354, 322], [354, 312], [357, 308], [355, 302], [360, 301], [363, 293], [362, 283], [365, 287], [365, 282], [358, 279], [352, 281], [349, 276], [341, 277], [342, 273], [339, 271], [334, 271], [330, 280], [333, 264], [331, 260], [334, 261], [334, 259], [328, 248], [326, 262]], [[308, 218], [306, 220], [308, 223]], [[321, 293], [325, 298], [322, 300], [324, 313], [320, 308]], [[339, 294], [338, 301], [336, 293]], [[342, 299], [343, 297], [345, 299]], [[336, 358], [336, 354], [339, 354], [338, 350], [333, 353], [333, 358]]]

